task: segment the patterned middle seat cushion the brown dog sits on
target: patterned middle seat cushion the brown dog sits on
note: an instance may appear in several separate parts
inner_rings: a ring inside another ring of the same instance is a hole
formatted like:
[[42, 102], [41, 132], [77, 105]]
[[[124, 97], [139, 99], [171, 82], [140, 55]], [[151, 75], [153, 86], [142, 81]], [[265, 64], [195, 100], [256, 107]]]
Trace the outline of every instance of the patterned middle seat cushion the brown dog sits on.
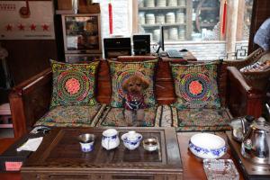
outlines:
[[[152, 106], [144, 109], [145, 120], [142, 122], [142, 126], [160, 126], [161, 111], [161, 106]], [[97, 126], [128, 126], [127, 121], [124, 119], [124, 108], [107, 106], [107, 109], [103, 112], [103, 115], [98, 121]]]

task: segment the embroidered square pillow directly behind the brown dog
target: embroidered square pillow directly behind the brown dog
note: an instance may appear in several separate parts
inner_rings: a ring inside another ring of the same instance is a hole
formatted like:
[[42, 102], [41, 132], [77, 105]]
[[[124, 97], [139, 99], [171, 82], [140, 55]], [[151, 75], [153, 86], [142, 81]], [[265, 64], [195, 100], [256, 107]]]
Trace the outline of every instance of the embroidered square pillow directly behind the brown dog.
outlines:
[[142, 62], [119, 62], [110, 60], [110, 70], [112, 78], [112, 107], [123, 107], [123, 97], [127, 92], [123, 91], [121, 85], [131, 75], [138, 75], [146, 78], [150, 82], [148, 89], [144, 93], [144, 100], [148, 106], [156, 103], [154, 94], [154, 75], [157, 60]]

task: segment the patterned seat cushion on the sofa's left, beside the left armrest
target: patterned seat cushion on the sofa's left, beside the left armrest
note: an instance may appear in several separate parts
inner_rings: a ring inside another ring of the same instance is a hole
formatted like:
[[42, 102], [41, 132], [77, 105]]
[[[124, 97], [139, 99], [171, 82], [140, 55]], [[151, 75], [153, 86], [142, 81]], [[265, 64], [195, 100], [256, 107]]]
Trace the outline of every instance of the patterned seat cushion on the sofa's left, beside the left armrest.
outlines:
[[57, 106], [45, 114], [35, 126], [94, 127], [105, 105]]

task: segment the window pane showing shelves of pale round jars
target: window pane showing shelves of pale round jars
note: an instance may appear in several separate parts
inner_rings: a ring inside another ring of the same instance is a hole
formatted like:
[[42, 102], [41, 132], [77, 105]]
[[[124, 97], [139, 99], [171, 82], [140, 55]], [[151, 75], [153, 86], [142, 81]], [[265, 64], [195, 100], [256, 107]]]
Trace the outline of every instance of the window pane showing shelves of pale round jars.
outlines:
[[[191, 14], [187, 17], [186, 0], [140, 0], [139, 32], [150, 33], [153, 41], [159, 40], [160, 26], [164, 26], [164, 39], [169, 41], [190, 39]], [[187, 25], [189, 23], [189, 25]]]

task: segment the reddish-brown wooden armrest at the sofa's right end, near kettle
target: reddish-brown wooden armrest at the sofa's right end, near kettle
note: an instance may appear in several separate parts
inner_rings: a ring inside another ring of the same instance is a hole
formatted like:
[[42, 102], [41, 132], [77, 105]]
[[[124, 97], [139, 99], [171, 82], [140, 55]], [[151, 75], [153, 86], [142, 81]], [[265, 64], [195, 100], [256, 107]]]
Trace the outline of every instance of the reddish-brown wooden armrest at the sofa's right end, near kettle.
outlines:
[[226, 103], [230, 112], [234, 116], [249, 114], [259, 117], [262, 114], [262, 92], [248, 85], [236, 67], [227, 67], [227, 69], [229, 82]]

